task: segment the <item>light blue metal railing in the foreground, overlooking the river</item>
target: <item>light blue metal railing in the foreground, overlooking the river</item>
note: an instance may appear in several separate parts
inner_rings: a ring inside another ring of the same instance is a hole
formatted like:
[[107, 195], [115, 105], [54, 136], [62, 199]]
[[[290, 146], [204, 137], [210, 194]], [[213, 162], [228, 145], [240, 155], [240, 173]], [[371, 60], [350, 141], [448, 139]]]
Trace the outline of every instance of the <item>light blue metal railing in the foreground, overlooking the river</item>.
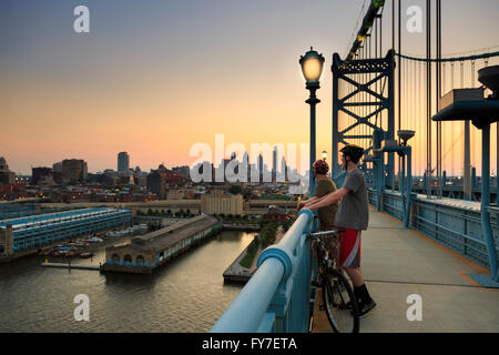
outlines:
[[281, 242], [263, 251], [257, 270], [212, 333], [306, 333], [310, 318], [314, 214], [302, 211]]

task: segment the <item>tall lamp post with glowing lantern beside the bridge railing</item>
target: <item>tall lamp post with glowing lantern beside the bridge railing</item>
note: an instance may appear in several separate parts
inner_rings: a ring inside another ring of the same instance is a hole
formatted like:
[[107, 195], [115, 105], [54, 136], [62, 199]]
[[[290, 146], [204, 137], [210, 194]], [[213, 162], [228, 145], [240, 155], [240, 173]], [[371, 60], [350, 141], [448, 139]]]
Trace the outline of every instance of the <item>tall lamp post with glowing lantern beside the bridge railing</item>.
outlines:
[[312, 164], [315, 162], [315, 106], [320, 102], [315, 95], [315, 92], [320, 88], [319, 79], [323, 73], [324, 57], [310, 47], [310, 50], [299, 58], [299, 65], [302, 65], [302, 72], [305, 77], [306, 89], [310, 91], [310, 97], [305, 102], [310, 105], [310, 170], [308, 175], [308, 191], [312, 197], [315, 190], [315, 176], [314, 170], [312, 169]]

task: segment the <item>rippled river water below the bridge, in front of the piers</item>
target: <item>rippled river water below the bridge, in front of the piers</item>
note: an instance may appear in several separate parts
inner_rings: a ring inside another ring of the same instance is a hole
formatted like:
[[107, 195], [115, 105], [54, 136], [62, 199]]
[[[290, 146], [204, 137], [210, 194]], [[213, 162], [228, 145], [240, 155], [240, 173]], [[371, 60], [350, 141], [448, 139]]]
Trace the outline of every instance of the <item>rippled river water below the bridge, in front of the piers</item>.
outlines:
[[[241, 291], [222, 274], [254, 235], [223, 231], [153, 275], [45, 268], [38, 256], [0, 264], [0, 332], [207, 332]], [[74, 320], [79, 294], [90, 321]]]

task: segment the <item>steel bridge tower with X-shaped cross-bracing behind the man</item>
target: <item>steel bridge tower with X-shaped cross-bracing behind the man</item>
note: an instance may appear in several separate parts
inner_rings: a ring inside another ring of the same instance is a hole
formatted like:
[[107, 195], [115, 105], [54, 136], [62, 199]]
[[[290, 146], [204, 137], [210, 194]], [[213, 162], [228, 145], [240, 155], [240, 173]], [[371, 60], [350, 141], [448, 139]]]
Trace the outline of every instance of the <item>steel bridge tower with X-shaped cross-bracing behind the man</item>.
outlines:
[[[384, 140], [395, 140], [394, 57], [393, 50], [377, 59], [342, 61], [338, 53], [333, 54], [333, 176], [342, 173], [340, 143], [360, 142], [367, 154], [375, 130], [383, 131]], [[391, 184], [394, 169], [394, 153], [389, 153], [384, 185]]]

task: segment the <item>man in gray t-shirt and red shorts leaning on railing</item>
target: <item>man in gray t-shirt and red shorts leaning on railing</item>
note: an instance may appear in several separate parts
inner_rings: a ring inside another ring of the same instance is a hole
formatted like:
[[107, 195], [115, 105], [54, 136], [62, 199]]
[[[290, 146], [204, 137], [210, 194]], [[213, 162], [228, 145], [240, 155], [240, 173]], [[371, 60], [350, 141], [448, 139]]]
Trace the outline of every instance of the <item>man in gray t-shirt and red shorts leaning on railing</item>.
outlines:
[[360, 231], [367, 230], [369, 222], [366, 179], [357, 168], [364, 149], [349, 144], [340, 152], [343, 166], [348, 172], [345, 183], [339, 190], [305, 205], [305, 209], [316, 210], [342, 200], [335, 221], [338, 229], [345, 230], [339, 234], [339, 267], [350, 277], [359, 314], [364, 316], [376, 306], [360, 271]]

